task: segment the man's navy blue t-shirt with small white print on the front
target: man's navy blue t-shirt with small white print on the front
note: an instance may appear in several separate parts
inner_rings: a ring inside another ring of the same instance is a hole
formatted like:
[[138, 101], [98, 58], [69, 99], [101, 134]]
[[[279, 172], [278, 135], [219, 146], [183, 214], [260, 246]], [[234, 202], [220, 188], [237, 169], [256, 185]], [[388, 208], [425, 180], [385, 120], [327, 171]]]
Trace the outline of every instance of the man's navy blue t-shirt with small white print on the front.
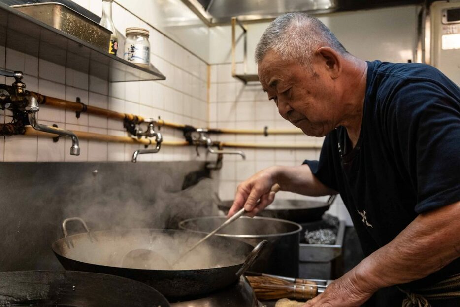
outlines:
[[[338, 127], [326, 136], [319, 162], [305, 163], [340, 193], [364, 254], [370, 255], [419, 213], [460, 201], [460, 89], [424, 64], [367, 66], [356, 146], [351, 148], [346, 129]], [[455, 273], [460, 259], [407, 287]]]

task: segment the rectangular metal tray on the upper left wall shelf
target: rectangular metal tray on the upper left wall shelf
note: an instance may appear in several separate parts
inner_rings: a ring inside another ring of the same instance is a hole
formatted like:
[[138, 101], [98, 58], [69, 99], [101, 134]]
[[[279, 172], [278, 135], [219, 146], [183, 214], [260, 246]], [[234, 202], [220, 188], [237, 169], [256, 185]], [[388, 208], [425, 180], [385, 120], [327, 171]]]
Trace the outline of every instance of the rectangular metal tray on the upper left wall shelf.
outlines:
[[110, 34], [112, 32], [60, 3], [46, 2], [13, 5], [12, 7], [104, 51], [106, 51], [109, 45]]

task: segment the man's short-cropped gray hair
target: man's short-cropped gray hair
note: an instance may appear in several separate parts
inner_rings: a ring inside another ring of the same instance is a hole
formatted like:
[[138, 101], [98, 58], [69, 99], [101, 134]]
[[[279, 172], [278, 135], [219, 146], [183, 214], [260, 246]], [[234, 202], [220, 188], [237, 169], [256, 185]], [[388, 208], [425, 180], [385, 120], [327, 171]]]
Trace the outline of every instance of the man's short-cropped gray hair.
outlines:
[[283, 60], [296, 60], [311, 67], [314, 48], [328, 46], [342, 55], [348, 51], [319, 19], [305, 13], [288, 13], [273, 20], [263, 32], [256, 47], [255, 60], [259, 63], [271, 49]]

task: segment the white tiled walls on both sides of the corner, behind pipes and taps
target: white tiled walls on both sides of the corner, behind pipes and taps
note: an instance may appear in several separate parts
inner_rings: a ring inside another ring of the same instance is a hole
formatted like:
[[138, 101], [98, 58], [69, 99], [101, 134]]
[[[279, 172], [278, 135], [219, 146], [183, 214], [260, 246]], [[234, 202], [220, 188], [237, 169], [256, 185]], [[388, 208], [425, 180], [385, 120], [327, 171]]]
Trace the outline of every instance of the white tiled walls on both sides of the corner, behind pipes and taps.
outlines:
[[[98, 1], [75, 1], [100, 15]], [[145, 4], [145, 3], [144, 3]], [[195, 127], [262, 129], [292, 129], [289, 122], [278, 114], [275, 105], [267, 100], [260, 85], [244, 85], [232, 78], [230, 64], [209, 66], [186, 49], [151, 28], [116, 3], [113, 4], [115, 26], [123, 30], [126, 26], [149, 29], [151, 62], [165, 76], [165, 81], [140, 81], [109, 83], [78, 71], [59, 66], [42, 59], [22, 54], [0, 46], [0, 68], [21, 70], [25, 73], [27, 89], [43, 95], [69, 101], [77, 97], [91, 106], [113, 111], [133, 113], [146, 118], [159, 116], [170, 122]], [[153, 3], [151, 5], [154, 5]], [[123, 31], [122, 31], [123, 32]], [[210, 88], [207, 88], [208, 76]], [[6, 82], [5, 82], [6, 81]], [[12, 80], [0, 77], [0, 83], [11, 84]], [[209, 102], [208, 102], [209, 96]], [[6, 116], [5, 116], [6, 115]], [[126, 136], [123, 123], [118, 120], [40, 106], [40, 123], [69, 129]], [[1, 111], [0, 122], [11, 121], [11, 113]], [[164, 140], [183, 140], [182, 132], [162, 128]], [[323, 139], [305, 135], [211, 135], [213, 140], [244, 143], [316, 143]], [[130, 161], [139, 145], [106, 143], [80, 139], [80, 156], [70, 156], [71, 141], [66, 137], [53, 142], [51, 138], [10, 136], [0, 137], [0, 161]], [[213, 173], [219, 180], [219, 196], [232, 199], [239, 182], [257, 171], [272, 165], [295, 166], [304, 159], [317, 159], [319, 150], [308, 149], [246, 149], [245, 161], [236, 155], [226, 155], [222, 170]], [[204, 149], [200, 149], [204, 153]], [[194, 147], [162, 146], [157, 154], [140, 155], [139, 161], [188, 161], [203, 160], [197, 157]], [[210, 159], [213, 159], [210, 157]], [[288, 192], [279, 192], [277, 198], [308, 199]], [[326, 199], [326, 198], [325, 198]], [[339, 204], [339, 205], [337, 205]], [[343, 204], [335, 202], [330, 213], [347, 218]]]

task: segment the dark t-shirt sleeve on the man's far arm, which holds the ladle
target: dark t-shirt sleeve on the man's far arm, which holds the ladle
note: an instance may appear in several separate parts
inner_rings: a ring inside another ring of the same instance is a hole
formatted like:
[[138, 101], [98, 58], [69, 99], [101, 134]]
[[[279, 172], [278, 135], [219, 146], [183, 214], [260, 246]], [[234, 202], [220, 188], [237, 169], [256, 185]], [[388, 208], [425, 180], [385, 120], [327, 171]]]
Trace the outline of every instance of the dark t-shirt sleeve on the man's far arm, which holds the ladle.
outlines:
[[323, 142], [323, 147], [321, 147], [320, 160], [305, 160], [303, 164], [308, 164], [313, 175], [325, 186], [334, 191], [338, 191], [336, 175], [333, 167], [333, 151], [332, 151], [332, 141], [331, 133], [329, 133]]

